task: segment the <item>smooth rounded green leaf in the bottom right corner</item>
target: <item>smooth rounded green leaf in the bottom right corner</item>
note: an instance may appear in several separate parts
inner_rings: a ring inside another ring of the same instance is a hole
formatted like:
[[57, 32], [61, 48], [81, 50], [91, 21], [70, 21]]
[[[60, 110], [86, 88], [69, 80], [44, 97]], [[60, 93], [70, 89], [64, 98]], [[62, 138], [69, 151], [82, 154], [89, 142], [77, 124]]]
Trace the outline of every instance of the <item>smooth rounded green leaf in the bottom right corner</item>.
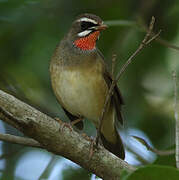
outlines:
[[169, 166], [149, 165], [137, 169], [123, 180], [178, 180], [179, 171]]

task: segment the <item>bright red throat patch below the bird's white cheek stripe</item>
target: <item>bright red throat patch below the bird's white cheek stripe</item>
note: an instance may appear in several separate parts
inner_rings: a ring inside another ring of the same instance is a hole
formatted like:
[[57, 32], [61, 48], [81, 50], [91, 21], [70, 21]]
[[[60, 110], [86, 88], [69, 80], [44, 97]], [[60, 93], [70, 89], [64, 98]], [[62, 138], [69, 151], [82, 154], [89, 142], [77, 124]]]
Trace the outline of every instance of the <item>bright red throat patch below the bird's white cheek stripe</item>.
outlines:
[[86, 37], [77, 39], [74, 44], [82, 50], [92, 50], [96, 46], [96, 40], [98, 39], [99, 34], [99, 31], [95, 31]]

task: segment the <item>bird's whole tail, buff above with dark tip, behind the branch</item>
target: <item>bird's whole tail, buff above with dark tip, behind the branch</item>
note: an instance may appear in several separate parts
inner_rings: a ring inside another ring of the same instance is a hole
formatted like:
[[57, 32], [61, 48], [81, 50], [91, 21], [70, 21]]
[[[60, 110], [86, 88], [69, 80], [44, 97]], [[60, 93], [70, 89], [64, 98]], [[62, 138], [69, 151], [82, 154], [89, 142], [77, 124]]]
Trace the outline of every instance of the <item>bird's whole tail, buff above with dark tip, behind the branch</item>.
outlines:
[[109, 108], [109, 111], [104, 116], [100, 136], [104, 147], [117, 157], [124, 159], [125, 151], [121, 137], [115, 126], [114, 110]]

